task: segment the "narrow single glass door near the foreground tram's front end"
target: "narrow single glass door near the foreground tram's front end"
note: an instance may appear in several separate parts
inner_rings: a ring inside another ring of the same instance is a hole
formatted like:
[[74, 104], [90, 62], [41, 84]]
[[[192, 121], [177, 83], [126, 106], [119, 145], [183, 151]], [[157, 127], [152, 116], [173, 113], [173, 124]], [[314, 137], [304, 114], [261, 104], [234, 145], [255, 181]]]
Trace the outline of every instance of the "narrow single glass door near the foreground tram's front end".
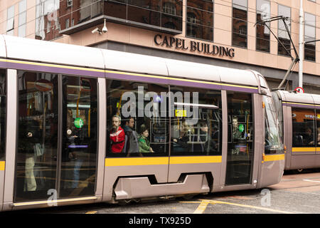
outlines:
[[253, 134], [252, 95], [228, 91], [226, 185], [251, 182]]

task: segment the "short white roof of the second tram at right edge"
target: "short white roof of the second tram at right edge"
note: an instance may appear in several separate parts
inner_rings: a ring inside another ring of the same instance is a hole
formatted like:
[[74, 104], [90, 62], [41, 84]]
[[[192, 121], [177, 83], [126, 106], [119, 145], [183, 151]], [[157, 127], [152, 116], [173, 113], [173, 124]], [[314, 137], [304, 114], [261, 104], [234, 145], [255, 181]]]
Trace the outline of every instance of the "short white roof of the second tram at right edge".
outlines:
[[282, 101], [296, 103], [314, 103], [320, 105], [320, 95], [312, 93], [292, 93], [289, 91], [277, 91], [282, 98]]

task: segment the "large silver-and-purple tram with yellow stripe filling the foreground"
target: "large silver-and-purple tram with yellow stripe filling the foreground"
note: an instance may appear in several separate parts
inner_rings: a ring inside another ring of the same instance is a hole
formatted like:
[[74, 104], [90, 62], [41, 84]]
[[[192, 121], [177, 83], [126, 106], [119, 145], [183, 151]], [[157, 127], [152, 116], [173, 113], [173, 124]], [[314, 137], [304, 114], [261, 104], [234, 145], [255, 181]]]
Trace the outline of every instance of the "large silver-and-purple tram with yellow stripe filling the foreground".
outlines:
[[277, 184], [255, 71], [0, 36], [0, 211]]

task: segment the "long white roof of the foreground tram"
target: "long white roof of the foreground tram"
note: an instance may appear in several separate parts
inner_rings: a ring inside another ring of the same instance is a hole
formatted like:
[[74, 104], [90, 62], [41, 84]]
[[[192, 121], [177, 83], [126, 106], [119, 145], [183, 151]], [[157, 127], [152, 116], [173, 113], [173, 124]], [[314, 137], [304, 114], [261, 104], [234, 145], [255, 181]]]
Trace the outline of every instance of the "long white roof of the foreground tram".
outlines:
[[16, 36], [0, 36], [0, 57], [24, 61], [100, 68], [132, 73], [188, 78], [202, 81], [259, 86], [254, 71], [145, 56], [136, 53], [39, 41]]

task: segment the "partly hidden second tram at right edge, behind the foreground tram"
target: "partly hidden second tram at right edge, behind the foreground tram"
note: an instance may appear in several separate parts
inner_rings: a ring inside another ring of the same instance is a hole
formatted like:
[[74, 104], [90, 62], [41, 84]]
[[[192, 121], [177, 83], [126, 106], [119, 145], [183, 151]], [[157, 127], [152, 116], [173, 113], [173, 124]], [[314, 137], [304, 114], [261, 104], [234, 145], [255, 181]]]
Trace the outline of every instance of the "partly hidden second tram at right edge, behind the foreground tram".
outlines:
[[320, 167], [320, 95], [272, 92], [286, 147], [284, 170]]

